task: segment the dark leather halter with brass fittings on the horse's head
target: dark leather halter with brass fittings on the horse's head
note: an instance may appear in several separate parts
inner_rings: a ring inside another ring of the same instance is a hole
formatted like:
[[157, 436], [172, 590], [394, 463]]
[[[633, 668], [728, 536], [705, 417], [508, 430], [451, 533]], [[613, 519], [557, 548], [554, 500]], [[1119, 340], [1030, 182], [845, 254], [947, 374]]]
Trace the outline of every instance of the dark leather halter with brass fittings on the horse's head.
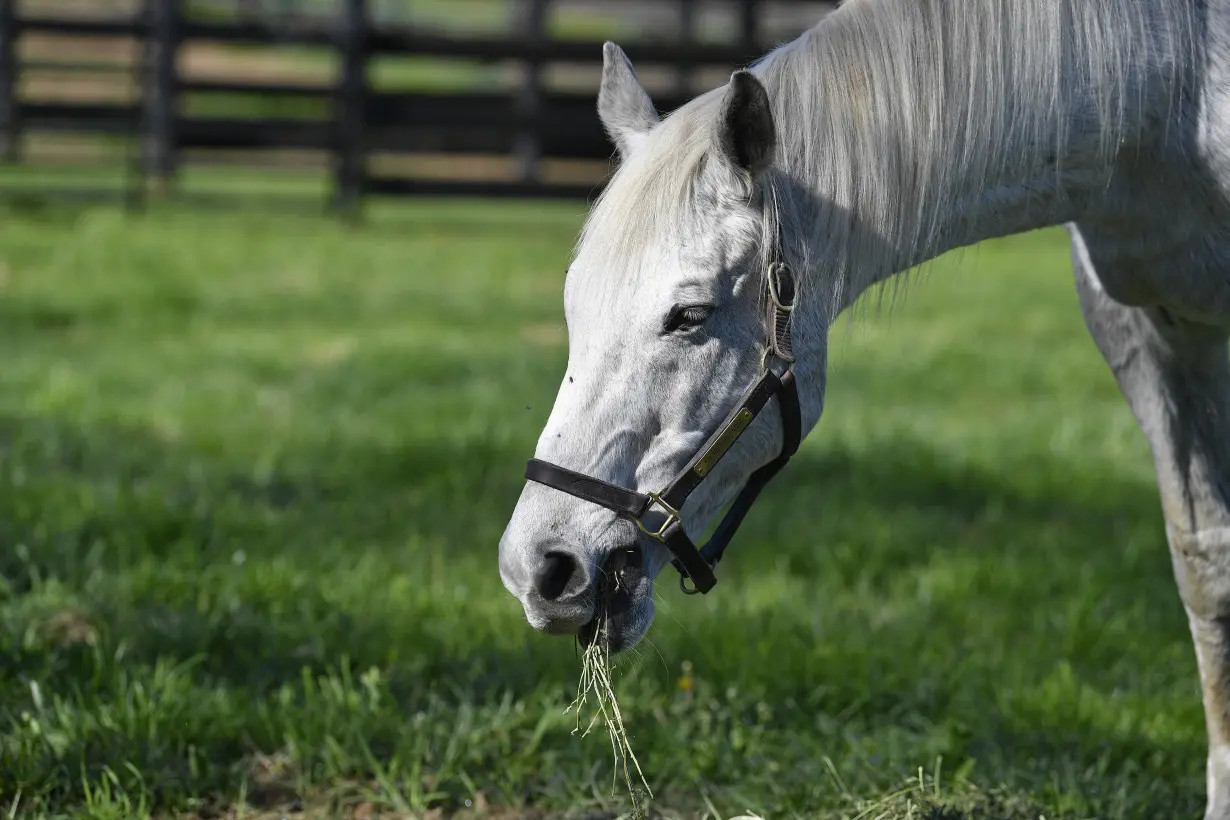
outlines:
[[[638, 493], [539, 459], [530, 459], [525, 467], [525, 477], [530, 481], [605, 507], [620, 518], [635, 521], [646, 535], [664, 543], [674, 556], [670, 563], [679, 570], [679, 586], [689, 595], [707, 593], [717, 583], [713, 568], [722, 559], [722, 553], [734, 537], [736, 530], [739, 529], [764, 486], [798, 450], [802, 439], [795, 374], [787, 369], [779, 376], [769, 368], [771, 358], [787, 364], [795, 360], [790, 339], [790, 315], [795, 309], [795, 275], [785, 263], [774, 262], [765, 273], [765, 284], [769, 295], [766, 316], [769, 338], [764, 354], [764, 374], [748, 387], [739, 403], [713, 432], [700, 452], [663, 489], [657, 493]], [[774, 396], [777, 397], [777, 411], [781, 414], [784, 436], [781, 452], [752, 473], [717, 525], [713, 537], [704, 547], [697, 547], [684, 531], [679, 510]], [[688, 586], [689, 579], [692, 583], [691, 588]]]

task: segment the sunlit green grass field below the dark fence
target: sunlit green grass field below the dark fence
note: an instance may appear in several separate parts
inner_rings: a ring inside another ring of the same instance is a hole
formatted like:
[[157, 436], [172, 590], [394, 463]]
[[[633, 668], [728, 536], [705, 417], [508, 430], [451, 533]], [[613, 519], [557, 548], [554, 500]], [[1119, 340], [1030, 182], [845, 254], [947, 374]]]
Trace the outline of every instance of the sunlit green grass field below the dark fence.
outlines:
[[[629, 808], [496, 567], [581, 211], [0, 214], [0, 816]], [[1199, 816], [1148, 449], [1064, 240], [844, 322], [721, 585], [663, 577], [617, 681], [663, 814]]]

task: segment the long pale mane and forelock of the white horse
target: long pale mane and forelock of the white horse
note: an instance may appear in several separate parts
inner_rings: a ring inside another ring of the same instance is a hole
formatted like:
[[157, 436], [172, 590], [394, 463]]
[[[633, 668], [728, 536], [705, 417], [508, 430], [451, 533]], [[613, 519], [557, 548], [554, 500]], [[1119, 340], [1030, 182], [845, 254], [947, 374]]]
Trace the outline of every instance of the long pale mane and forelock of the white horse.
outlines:
[[[903, 259], [966, 243], [946, 209], [996, 183], [1038, 184], [1039, 155], [1052, 157], [1055, 189], [1068, 165], [1105, 167], [1108, 182], [1113, 155], [1157, 104], [1151, 96], [1177, 104], [1197, 57], [1198, 5], [846, 0], [752, 66], [779, 140], [755, 192], [765, 236], [786, 224], [796, 268], [830, 275], [839, 306], [843, 289], [857, 296]], [[621, 165], [582, 230], [587, 251], [632, 259], [679, 230], [722, 91], [665, 117]], [[1076, 129], [1096, 156], [1073, 156]], [[825, 207], [802, 202], [790, 179]]]

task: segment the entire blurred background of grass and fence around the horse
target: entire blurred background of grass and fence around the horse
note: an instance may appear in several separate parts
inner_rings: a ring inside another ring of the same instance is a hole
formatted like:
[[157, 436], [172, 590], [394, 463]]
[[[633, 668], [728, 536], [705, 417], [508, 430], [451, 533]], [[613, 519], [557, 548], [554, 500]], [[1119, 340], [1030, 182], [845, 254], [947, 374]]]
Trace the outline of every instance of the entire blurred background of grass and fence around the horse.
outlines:
[[[670, 111], [830, 11], [0, 0], [0, 815], [631, 816], [496, 563], [613, 167], [601, 42]], [[722, 583], [664, 577], [617, 666], [652, 816], [1199, 816], [1064, 231], [870, 295], [829, 358]]]

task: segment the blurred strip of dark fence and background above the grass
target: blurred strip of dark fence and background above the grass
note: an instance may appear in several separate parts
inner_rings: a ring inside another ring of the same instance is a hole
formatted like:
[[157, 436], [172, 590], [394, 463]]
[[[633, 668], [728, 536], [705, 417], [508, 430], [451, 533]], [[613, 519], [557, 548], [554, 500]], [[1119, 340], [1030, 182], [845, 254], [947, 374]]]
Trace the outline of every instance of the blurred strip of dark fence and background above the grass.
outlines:
[[584, 197], [609, 170], [594, 117], [604, 39], [669, 111], [830, 5], [6, 0], [0, 148], [132, 198], [204, 192], [197, 171], [219, 166], [293, 172], [343, 208]]

